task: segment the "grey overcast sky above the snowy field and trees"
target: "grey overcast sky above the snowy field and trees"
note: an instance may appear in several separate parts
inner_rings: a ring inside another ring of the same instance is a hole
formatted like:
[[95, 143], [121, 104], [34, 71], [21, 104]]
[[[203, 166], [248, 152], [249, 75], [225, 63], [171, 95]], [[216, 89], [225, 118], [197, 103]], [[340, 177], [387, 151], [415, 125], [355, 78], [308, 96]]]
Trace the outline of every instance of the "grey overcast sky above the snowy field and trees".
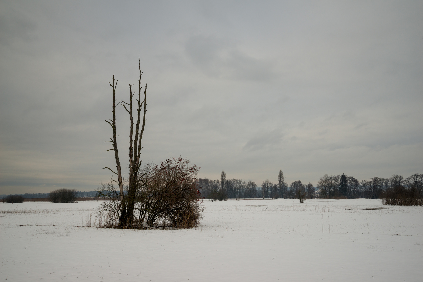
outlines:
[[314, 185], [423, 173], [422, 14], [422, 1], [1, 1], [0, 194], [107, 182], [108, 82], [128, 100], [138, 56], [144, 162], [187, 157], [201, 178], [258, 186], [279, 170]]

